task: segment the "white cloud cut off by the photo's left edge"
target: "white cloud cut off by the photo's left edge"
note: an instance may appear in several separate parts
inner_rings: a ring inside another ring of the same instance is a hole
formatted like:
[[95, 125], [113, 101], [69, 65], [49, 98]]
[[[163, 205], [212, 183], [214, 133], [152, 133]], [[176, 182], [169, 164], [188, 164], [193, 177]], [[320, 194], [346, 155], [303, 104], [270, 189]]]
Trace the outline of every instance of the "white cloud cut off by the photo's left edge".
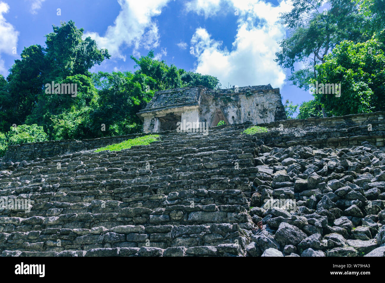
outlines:
[[[8, 13], [9, 6], [5, 2], [0, 2], [0, 56], [2, 53], [15, 55], [13, 52], [17, 51], [17, 39], [19, 32], [7, 22], [3, 14]], [[4, 60], [0, 58], [0, 73], [6, 74]]]

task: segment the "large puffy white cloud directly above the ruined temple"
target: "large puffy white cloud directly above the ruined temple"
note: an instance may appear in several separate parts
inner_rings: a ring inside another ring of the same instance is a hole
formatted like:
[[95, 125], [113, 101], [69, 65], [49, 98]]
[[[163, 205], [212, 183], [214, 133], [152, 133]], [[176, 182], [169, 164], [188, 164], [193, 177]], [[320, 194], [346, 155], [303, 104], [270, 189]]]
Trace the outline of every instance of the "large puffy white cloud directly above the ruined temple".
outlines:
[[[197, 59], [195, 71], [218, 77], [224, 86], [228, 83], [239, 86], [270, 83], [273, 87], [282, 87], [286, 75], [274, 59], [275, 52], [280, 50], [277, 42], [285, 37], [286, 32], [286, 28], [278, 23], [278, 16], [280, 12], [291, 9], [289, 1], [283, 0], [278, 6], [273, 6], [262, 0], [228, 0], [239, 12], [232, 49], [223, 48], [222, 42], [212, 39], [205, 28], [197, 28], [191, 38], [193, 55]], [[216, 11], [211, 7], [216, 5], [214, 0], [202, 5], [199, 5], [199, 0], [193, 2], [197, 13]]]

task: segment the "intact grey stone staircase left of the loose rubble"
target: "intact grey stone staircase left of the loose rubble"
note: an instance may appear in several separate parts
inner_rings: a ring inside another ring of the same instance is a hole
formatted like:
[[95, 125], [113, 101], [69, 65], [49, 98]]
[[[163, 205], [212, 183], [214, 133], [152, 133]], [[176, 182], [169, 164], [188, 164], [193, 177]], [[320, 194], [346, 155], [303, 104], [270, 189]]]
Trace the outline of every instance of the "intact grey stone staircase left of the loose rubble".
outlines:
[[[20, 256], [244, 255], [260, 141], [243, 126], [119, 152], [2, 163], [0, 251]], [[143, 248], [141, 248], [143, 247]]]

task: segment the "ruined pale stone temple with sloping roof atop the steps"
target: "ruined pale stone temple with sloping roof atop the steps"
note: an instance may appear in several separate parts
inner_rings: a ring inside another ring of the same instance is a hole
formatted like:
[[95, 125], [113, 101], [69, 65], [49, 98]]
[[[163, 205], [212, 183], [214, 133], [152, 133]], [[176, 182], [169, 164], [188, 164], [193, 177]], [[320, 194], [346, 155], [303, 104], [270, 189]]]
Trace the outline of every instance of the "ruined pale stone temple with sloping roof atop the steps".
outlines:
[[260, 124], [286, 119], [280, 89], [270, 84], [220, 90], [202, 85], [162, 90], [137, 115], [146, 133], [175, 130], [177, 122], [183, 121], [195, 127], [199, 123], [214, 127], [219, 121]]

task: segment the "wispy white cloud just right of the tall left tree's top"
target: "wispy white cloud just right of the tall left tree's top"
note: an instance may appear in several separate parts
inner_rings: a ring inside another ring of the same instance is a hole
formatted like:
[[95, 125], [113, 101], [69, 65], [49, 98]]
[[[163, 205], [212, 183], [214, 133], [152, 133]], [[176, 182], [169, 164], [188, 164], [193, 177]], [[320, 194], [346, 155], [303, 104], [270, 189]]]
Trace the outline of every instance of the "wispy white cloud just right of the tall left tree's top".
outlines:
[[97, 32], [87, 32], [84, 36], [95, 39], [99, 48], [107, 48], [109, 54], [125, 61], [122, 47], [133, 47], [133, 54], [137, 54], [139, 47], [151, 49], [159, 46], [158, 26], [152, 17], [160, 15], [168, 1], [118, 0], [121, 11], [104, 36]]

